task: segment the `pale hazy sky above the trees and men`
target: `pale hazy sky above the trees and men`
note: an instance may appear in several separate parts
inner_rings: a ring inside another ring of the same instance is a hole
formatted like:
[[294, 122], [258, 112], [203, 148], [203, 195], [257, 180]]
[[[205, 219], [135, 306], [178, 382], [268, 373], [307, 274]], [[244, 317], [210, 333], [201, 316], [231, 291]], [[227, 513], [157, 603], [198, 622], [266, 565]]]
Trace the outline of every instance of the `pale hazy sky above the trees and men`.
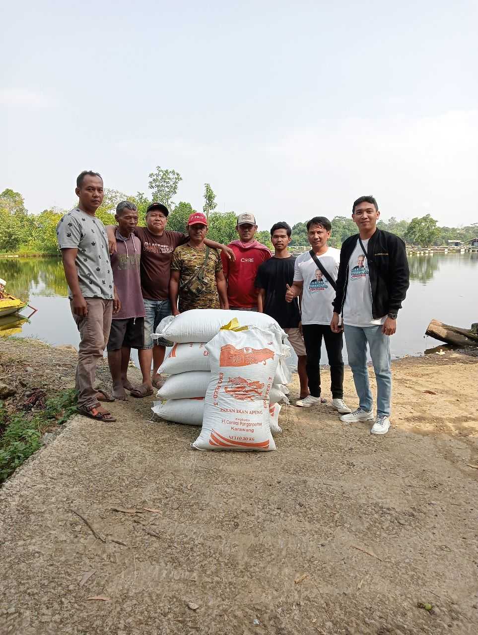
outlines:
[[[234, 5], [234, 6], [233, 6]], [[260, 229], [349, 215], [478, 222], [478, 3], [2, 3], [0, 191], [76, 203], [81, 170]]]

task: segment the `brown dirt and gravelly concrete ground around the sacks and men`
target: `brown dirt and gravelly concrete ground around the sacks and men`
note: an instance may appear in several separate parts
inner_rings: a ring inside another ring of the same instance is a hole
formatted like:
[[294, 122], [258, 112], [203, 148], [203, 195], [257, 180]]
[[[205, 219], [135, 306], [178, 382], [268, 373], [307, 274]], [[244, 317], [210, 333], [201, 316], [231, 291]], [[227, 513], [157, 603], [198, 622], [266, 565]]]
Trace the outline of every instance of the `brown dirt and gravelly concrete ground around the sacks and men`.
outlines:
[[[71, 382], [71, 352], [0, 345]], [[475, 635], [478, 358], [393, 377], [386, 436], [289, 406], [271, 453], [192, 451], [149, 398], [72, 418], [0, 490], [1, 635]]]

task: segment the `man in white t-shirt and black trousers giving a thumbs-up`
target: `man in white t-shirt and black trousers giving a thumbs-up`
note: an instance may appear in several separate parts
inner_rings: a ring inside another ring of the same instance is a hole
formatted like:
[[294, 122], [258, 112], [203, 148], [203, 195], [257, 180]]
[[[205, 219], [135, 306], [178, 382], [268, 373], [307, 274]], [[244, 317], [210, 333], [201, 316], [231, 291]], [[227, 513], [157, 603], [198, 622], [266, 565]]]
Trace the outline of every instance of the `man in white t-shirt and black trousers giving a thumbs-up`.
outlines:
[[320, 404], [320, 348], [324, 338], [331, 368], [332, 406], [339, 413], [349, 413], [350, 408], [343, 401], [342, 333], [333, 333], [330, 327], [340, 261], [339, 250], [327, 245], [331, 229], [330, 220], [323, 216], [311, 218], [307, 223], [311, 250], [296, 258], [294, 283], [285, 300], [292, 302], [302, 293], [301, 321], [310, 395], [299, 399], [296, 405], [310, 408]]

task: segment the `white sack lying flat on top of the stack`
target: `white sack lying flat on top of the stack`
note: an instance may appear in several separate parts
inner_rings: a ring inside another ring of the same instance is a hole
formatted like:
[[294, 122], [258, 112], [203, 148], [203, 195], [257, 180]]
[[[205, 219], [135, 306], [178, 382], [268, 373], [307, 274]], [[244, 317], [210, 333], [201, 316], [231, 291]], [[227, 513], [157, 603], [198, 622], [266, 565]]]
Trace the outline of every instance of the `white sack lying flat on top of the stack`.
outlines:
[[282, 337], [286, 337], [275, 319], [265, 313], [256, 311], [231, 311], [229, 309], [191, 309], [179, 316], [168, 316], [161, 320], [156, 333], [151, 337], [165, 338], [171, 342], [209, 342], [219, 333], [223, 326], [230, 328], [242, 326], [259, 326], [268, 329], [270, 326], [280, 329]]

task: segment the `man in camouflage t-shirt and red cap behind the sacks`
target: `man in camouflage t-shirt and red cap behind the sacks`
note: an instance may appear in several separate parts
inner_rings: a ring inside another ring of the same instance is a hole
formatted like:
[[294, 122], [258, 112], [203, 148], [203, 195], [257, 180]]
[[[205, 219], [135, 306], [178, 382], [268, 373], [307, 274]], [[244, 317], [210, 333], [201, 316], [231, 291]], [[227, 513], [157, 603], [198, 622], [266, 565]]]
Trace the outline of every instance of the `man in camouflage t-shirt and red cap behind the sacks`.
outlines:
[[191, 214], [188, 233], [188, 243], [175, 249], [171, 262], [169, 297], [173, 315], [189, 309], [229, 309], [221, 256], [217, 249], [204, 244], [205, 214]]

